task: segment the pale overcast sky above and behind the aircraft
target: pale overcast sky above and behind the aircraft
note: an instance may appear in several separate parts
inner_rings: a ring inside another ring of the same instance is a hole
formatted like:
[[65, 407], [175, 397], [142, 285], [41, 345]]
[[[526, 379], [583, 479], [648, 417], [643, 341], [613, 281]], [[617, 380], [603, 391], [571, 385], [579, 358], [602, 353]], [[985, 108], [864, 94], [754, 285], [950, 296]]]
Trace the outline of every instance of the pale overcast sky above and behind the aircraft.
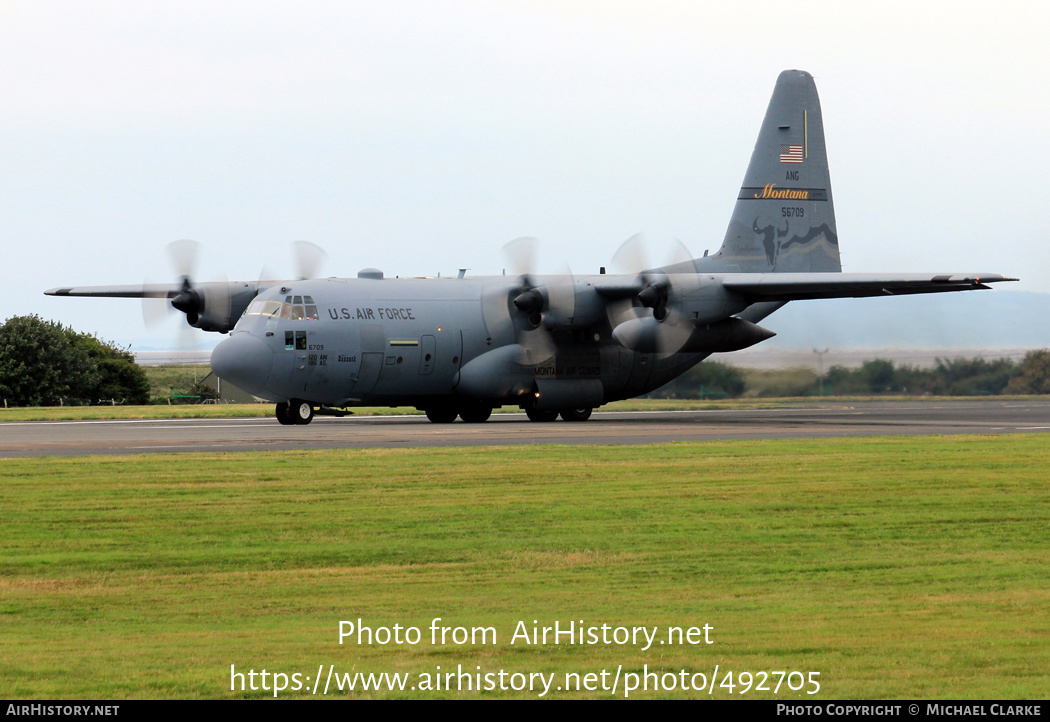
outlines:
[[[777, 75], [811, 71], [844, 270], [1050, 292], [1050, 10], [1037, 2], [0, 0], [0, 318], [136, 346], [69, 284], [607, 264], [717, 249]], [[877, 300], [873, 300], [877, 303]], [[775, 328], [775, 322], [769, 325]], [[214, 342], [215, 335], [198, 335]]]

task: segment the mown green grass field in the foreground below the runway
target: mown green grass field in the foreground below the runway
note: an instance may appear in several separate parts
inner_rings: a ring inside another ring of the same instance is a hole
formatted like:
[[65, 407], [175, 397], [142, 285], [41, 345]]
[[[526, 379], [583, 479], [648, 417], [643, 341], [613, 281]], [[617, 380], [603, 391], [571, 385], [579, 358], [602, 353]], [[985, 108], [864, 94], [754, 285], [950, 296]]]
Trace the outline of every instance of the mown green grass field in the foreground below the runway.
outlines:
[[[1045, 434], [3, 460], [0, 689], [272, 696], [231, 692], [231, 664], [299, 674], [281, 696], [330, 665], [410, 686], [438, 666], [556, 686], [718, 665], [715, 697], [726, 672], [797, 671], [818, 695], [742, 697], [1046, 698], [1048, 467]], [[497, 643], [432, 644], [435, 617]], [[358, 618], [423, 638], [340, 645]], [[510, 644], [520, 620], [710, 624], [713, 643]]]

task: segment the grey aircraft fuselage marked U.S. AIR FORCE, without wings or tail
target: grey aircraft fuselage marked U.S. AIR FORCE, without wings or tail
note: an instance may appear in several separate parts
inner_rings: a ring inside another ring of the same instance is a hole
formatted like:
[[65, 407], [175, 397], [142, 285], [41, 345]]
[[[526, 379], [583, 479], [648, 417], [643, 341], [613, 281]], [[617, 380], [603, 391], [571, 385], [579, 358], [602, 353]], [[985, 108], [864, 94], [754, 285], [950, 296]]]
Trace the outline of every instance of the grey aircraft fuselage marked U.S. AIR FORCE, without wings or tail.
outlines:
[[[660, 358], [613, 340], [594, 291], [604, 278], [571, 279], [585, 318], [558, 324], [531, 324], [517, 313], [520, 280], [509, 276], [292, 282], [259, 294], [213, 365], [271, 401], [426, 407], [470, 398], [499, 406], [534, 403], [546, 386], [565, 395], [559, 403], [597, 406], [657, 388], [707, 356]], [[598, 313], [586, 312], [588, 296]], [[286, 301], [303, 298], [314, 303]], [[271, 313], [260, 313], [268, 301]], [[529, 334], [549, 335], [555, 353], [531, 358], [520, 345]]]

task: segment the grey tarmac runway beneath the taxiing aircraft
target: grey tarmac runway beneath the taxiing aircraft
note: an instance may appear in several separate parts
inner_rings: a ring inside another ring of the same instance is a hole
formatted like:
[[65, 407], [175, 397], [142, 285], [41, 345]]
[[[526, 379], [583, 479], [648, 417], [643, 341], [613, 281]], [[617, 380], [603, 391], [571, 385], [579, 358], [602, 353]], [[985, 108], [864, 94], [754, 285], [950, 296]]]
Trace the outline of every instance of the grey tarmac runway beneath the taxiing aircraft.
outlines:
[[595, 411], [590, 421], [529, 422], [494, 415], [484, 424], [424, 417], [55, 421], [0, 424], [0, 458], [185, 451], [360, 449], [528, 444], [658, 444], [735, 439], [957, 433], [1046, 433], [1050, 400], [800, 403], [773, 409]]

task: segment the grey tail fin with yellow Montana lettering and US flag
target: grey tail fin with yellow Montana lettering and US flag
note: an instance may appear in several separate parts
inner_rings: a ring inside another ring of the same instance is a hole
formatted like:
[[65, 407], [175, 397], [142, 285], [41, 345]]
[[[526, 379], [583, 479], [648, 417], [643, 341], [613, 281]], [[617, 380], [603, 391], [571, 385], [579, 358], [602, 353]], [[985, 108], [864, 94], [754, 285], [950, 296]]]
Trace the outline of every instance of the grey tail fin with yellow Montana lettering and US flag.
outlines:
[[726, 239], [697, 266], [740, 273], [842, 270], [824, 124], [808, 72], [784, 70], [777, 79]]

